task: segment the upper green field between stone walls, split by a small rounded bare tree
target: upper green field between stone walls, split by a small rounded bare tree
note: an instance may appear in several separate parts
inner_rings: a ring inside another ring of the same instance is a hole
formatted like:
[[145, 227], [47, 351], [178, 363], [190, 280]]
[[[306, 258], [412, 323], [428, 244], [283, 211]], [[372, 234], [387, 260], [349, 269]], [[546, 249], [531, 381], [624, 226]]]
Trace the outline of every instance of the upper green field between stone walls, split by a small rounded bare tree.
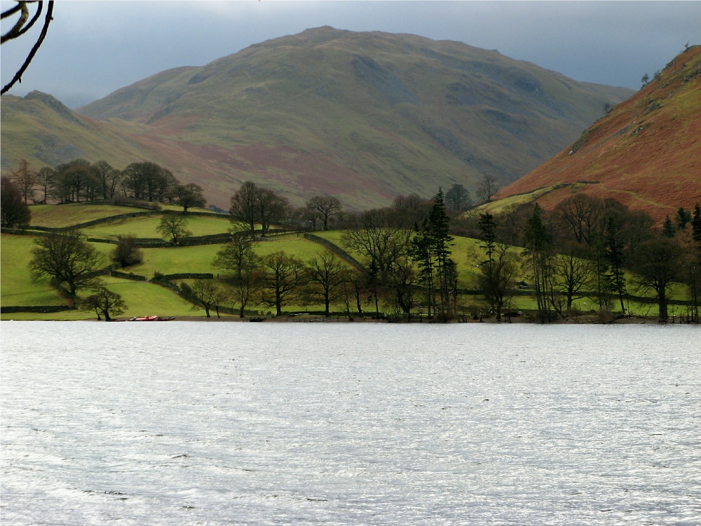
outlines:
[[[156, 228], [161, 222], [161, 215], [126, 217], [109, 223], [94, 224], [82, 229], [87, 236], [94, 238], [116, 238], [116, 236], [133, 235], [139, 238], [160, 238]], [[186, 229], [193, 236], [223, 234], [231, 228], [231, 223], [222, 215], [205, 217], [202, 215], [187, 215]]]

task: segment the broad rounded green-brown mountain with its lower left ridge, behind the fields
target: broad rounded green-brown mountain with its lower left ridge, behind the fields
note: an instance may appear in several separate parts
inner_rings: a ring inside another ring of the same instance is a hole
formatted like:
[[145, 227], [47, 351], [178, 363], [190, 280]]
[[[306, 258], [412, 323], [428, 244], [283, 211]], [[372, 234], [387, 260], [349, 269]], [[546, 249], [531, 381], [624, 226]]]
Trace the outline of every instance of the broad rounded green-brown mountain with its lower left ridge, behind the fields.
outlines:
[[320, 27], [161, 72], [70, 119], [35, 95], [28, 112], [57, 113], [32, 121], [3, 97], [2, 161], [149, 159], [224, 208], [245, 180], [297, 203], [327, 193], [369, 208], [439, 185], [475, 189], [483, 174], [512, 182], [631, 94], [460, 42]]

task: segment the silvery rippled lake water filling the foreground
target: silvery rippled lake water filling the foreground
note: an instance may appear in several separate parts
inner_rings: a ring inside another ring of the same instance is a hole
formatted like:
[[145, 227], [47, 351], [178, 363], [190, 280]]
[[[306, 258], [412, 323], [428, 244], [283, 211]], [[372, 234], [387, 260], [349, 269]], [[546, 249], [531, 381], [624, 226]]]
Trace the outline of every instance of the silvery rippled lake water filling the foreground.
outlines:
[[701, 330], [1, 323], [11, 525], [699, 525]]

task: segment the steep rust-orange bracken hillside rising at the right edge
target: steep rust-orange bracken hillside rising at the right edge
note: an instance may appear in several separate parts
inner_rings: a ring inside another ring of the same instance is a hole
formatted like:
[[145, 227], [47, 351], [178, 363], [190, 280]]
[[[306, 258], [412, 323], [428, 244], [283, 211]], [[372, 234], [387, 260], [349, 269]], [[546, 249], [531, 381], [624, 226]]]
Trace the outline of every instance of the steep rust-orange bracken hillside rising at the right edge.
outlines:
[[633, 97], [497, 198], [536, 189], [543, 189], [537, 194], [545, 208], [580, 191], [613, 197], [660, 221], [680, 206], [692, 209], [701, 201], [701, 46], [677, 55]]

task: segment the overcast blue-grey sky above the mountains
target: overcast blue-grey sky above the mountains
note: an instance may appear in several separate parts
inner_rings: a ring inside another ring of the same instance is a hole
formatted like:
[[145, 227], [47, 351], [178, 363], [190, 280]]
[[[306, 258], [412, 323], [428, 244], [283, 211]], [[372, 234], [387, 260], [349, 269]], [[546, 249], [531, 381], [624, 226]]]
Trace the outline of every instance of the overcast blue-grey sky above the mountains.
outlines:
[[[2, 11], [13, 4], [0, 1]], [[165, 69], [322, 25], [462, 41], [577, 81], [638, 89], [686, 43], [701, 44], [701, 1], [60, 0], [9, 93], [40, 90], [79, 107]], [[3, 86], [38, 34], [1, 46]]]

